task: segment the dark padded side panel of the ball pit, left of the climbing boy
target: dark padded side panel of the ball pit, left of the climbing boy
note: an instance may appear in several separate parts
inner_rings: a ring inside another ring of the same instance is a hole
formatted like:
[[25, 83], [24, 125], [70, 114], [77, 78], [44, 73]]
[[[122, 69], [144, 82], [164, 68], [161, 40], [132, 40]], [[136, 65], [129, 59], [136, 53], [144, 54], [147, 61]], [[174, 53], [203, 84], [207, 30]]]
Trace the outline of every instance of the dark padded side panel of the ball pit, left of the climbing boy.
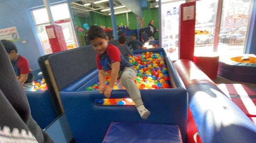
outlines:
[[91, 45], [48, 57], [58, 90], [62, 90], [96, 68], [96, 51]]

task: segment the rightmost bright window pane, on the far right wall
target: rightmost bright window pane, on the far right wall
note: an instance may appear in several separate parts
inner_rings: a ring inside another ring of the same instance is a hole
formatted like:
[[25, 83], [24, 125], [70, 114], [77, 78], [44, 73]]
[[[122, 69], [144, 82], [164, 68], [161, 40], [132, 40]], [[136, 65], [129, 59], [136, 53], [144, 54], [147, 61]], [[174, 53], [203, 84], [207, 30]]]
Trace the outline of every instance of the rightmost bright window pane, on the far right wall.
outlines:
[[218, 53], [244, 53], [251, 0], [223, 0]]

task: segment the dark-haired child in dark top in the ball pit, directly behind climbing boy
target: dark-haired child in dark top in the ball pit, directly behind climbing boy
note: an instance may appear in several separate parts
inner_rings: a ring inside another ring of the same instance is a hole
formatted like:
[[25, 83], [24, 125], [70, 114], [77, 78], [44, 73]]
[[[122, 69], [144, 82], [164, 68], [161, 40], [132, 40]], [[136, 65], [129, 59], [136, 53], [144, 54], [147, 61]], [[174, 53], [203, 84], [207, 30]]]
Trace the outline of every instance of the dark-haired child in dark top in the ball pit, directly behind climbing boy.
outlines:
[[117, 48], [119, 48], [122, 55], [129, 62], [129, 55], [133, 56], [134, 54], [132, 53], [131, 49], [127, 45], [125, 45], [126, 43], [125, 36], [120, 36], [118, 38], [118, 42], [120, 45]]

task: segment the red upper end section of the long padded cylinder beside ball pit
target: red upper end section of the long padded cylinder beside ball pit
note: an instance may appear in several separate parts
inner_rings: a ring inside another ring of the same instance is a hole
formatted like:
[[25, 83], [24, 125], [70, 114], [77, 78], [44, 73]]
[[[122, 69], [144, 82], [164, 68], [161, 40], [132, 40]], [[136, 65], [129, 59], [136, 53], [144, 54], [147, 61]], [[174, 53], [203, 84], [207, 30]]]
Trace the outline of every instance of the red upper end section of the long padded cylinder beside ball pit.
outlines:
[[206, 83], [215, 85], [215, 83], [209, 79], [209, 77], [202, 72], [194, 62], [188, 59], [180, 59], [174, 63], [177, 72], [180, 75], [185, 87], [189, 87], [193, 84]]

